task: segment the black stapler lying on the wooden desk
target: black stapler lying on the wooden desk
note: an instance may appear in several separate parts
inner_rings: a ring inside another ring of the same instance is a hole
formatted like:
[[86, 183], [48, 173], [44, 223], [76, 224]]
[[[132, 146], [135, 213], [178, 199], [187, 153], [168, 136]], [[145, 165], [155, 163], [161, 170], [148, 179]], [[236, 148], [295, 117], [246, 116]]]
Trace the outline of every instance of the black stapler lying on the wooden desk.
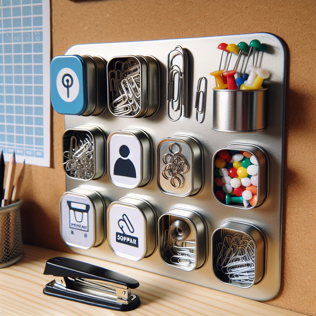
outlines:
[[47, 260], [44, 274], [64, 277], [47, 283], [46, 295], [123, 312], [140, 304], [138, 295], [131, 294], [137, 280], [93, 264], [55, 257]]

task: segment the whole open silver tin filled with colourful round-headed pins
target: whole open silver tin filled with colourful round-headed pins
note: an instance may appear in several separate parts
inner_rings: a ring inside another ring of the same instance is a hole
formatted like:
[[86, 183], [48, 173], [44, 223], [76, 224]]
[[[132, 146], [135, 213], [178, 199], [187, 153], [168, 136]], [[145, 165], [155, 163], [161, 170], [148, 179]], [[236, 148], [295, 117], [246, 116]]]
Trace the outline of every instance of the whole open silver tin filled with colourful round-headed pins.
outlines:
[[249, 210], [264, 203], [268, 196], [269, 160], [263, 149], [232, 143], [215, 152], [212, 166], [212, 191], [221, 204]]

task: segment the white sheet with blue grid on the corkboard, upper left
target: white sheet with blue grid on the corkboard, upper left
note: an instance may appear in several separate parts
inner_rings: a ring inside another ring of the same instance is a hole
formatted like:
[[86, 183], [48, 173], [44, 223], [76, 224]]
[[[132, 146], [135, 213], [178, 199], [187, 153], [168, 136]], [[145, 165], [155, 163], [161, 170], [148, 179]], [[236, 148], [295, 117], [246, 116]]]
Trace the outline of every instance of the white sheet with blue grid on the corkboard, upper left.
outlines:
[[49, 167], [50, 3], [0, 3], [0, 151]]

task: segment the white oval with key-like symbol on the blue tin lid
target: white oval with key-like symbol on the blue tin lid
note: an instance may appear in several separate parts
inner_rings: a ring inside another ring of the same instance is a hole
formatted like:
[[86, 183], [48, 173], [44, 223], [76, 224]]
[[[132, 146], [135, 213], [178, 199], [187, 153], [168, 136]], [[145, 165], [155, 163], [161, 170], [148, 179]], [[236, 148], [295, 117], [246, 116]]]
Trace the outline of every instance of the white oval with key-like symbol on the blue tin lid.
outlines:
[[70, 68], [63, 68], [58, 72], [56, 86], [59, 96], [66, 102], [72, 102], [79, 93], [79, 79]]

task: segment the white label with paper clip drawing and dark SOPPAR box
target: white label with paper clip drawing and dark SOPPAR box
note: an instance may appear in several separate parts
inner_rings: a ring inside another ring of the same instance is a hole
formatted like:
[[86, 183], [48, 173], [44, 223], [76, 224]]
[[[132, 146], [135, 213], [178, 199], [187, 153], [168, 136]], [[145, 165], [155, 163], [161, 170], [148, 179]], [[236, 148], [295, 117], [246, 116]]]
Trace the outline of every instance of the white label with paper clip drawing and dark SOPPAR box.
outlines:
[[133, 261], [141, 260], [147, 252], [147, 228], [142, 212], [136, 207], [114, 204], [110, 208], [108, 221], [108, 242], [113, 252]]

